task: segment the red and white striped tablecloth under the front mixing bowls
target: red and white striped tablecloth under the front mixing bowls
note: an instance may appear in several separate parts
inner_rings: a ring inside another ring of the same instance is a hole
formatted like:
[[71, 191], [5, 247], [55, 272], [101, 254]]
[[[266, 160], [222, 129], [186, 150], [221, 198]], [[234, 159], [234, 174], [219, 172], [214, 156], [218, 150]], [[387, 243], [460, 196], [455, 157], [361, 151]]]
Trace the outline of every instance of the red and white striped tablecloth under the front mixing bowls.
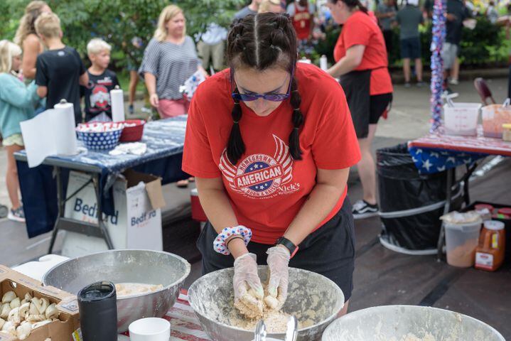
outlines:
[[[176, 304], [165, 316], [171, 323], [170, 341], [210, 341], [211, 339], [200, 327], [199, 320], [188, 303], [186, 291], [181, 291]], [[126, 334], [128, 335], [128, 334]]]

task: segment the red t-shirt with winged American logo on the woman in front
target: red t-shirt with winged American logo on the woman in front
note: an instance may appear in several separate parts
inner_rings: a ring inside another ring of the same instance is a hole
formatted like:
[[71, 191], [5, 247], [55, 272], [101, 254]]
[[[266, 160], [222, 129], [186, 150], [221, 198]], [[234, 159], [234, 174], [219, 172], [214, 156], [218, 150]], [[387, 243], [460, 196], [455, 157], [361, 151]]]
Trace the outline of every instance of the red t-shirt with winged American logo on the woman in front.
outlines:
[[[195, 92], [188, 115], [183, 171], [199, 178], [222, 177], [240, 224], [252, 229], [252, 240], [274, 244], [298, 214], [316, 185], [316, 168], [342, 169], [360, 160], [353, 122], [343, 89], [318, 67], [296, 67], [301, 111], [301, 161], [289, 153], [289, 99], [267, 117], [259, 117], [243, 102], [240, 129], [246, 151], [236, 165], [225, 148], [232, 128], [230, 72], [224, 70], [203, 82]], [[343, 205], [347, 190], [319, 225]], [[318, 227], [319, 227], [318, 226]]]

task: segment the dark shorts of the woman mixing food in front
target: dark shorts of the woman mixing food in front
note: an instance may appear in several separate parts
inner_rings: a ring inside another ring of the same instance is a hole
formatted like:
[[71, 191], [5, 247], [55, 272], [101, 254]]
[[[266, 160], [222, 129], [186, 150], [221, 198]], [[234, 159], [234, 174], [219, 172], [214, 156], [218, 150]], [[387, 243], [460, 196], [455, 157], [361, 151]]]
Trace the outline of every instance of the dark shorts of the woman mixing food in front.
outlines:
[[[206, 223], [197, 241], [203, 255], [203, 275], [234, 266], [232, 256], [224, 256], [213, 249], [217, 232], [210, 222]], [[267, 265], [266, 251], [271, 245], [251, 242], [248, 249], [257, 255], [257, 264]], [[355, 269], [355, 229], [351, 204], [346, 197], [343, 207], [326, 224], [306, 237], [298, 246], [298, 252], [289, 261], [292, 268], [316, 272], [330, 278], [344, 293], [348, 301], [353, 291]]]

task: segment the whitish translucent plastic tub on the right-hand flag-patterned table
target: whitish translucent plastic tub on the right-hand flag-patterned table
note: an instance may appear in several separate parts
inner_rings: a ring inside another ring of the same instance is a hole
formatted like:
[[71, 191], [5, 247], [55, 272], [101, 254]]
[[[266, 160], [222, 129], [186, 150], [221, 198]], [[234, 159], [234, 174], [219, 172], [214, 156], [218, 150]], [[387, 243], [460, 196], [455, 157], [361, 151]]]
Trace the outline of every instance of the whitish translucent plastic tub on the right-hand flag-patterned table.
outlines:
[[478, 134], [478, 119], [481, 104], [453, 103], [443, 106], [443, 122], [446, 134], [476, 136]]

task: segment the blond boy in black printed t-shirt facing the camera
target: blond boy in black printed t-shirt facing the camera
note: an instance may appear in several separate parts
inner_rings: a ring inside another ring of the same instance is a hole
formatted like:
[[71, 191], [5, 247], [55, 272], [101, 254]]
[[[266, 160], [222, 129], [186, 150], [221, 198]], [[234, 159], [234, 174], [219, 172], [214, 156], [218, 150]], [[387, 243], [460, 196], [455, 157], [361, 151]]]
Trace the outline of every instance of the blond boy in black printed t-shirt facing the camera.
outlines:
[[112, 47], [102, 39], [94, 38], [87, 44], [87, 55], [92, 65], [87, 70], [89, 84], [82, 87], [85, 96], [85, 121], [112, 121], [110, 90], [119, 85], [117, 75], [107, 67]]

